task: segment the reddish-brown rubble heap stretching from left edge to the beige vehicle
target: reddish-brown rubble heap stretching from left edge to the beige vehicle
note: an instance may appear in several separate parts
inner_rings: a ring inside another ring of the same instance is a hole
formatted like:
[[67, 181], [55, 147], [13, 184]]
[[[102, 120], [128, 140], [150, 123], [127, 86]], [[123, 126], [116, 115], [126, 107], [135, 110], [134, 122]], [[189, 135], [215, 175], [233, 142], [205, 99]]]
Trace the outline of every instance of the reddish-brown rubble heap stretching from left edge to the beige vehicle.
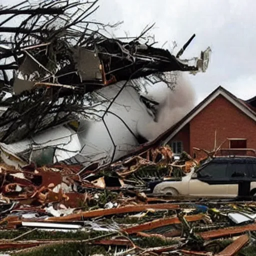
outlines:
[[1, 163], [1, 195], [8, 202], [44, 205], [58, 201], [66, 207], [78, 207], [96, 198], [96, 191], [148, 192], [150, 181], [184, 176], [195, 166], [195, 161], [187, 159], [184, 153], [173, 160], [170, 147], [159, 146], [107, 166], [91, 165], [91, 169], [65, 164], [15, 168]]

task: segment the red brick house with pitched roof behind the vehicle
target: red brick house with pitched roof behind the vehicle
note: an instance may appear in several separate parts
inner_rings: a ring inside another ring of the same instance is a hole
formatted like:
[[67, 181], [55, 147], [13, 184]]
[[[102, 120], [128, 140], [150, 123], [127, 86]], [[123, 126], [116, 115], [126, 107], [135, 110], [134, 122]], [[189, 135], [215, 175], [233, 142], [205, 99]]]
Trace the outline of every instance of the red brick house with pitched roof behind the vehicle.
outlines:
[[212, 150], [215, 137], [221, 148], [256, 149], [256, 97], [241, 100], [219, 86], [165, 132], [162, 142], [175, 153], [194, 155], [193, 147]]

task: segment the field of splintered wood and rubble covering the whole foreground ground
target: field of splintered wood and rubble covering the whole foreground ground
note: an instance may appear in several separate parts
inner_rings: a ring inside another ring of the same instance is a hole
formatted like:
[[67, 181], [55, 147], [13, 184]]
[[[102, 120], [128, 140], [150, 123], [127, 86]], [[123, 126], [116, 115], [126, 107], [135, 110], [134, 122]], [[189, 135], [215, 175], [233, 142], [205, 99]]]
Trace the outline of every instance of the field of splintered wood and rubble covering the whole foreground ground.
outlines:
[[[0, 164], [0, 249], [15, 255], [253, 255], [256, 203], [147, 189], [197, 161], [167, 146], [110, 165]], [[91, 246], [93, 245], [93, 246]]]

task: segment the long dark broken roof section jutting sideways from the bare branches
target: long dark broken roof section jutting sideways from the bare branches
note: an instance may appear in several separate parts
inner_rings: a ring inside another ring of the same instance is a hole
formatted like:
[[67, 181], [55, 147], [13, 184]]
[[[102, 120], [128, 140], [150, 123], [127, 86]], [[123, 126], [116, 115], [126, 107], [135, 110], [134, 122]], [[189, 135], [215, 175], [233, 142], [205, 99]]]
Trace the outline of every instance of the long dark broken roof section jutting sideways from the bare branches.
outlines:
[[125, 42], [100, 38], [88, 46], [70, 46], [70, 63], [58, 68], [53, 79], [53, 70], [46, 68], [51, 60], [43, 59], [45, 53], [41, 53], [47, 51], [48, 47], [46, 45], [24, 51], [23, 61], [14, 78], [15, 94], [37, 86], [56, 86], [57, 83], [66, 88], [70, 88], [66, 85], [71, 85], [71, 88], [86, 93], [117, 81], [152, 74], [160, 79], [166, 71], [190, 71], [193, 74], [205, 72], [210, 52], [208, 47], [201, 52], [200, 57], [188, 61], [179, 59], [168, 50], [141, 44], [139, 40]]

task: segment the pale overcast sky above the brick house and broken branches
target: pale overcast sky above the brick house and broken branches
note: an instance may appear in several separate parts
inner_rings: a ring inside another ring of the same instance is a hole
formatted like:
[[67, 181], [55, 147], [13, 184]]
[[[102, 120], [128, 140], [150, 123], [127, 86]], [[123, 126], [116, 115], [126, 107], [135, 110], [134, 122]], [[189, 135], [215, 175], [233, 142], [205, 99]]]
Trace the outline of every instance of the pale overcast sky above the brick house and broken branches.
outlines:
[[[9, 4], [18, 0], [8, 0]], [[116, 35], [138, 35], [155, 22], [151, 31], [155, 46], [177, 50], [195, 33], [183, 58], [199, 56], [210, 46], [211, 59], [206, 73], [190, 75], [197, 102], [218, 85], [242, 99], [256, 95], [256, 1], [255, 0], [99, 0], [95, 13], [99, 21], [124, 23]]]

